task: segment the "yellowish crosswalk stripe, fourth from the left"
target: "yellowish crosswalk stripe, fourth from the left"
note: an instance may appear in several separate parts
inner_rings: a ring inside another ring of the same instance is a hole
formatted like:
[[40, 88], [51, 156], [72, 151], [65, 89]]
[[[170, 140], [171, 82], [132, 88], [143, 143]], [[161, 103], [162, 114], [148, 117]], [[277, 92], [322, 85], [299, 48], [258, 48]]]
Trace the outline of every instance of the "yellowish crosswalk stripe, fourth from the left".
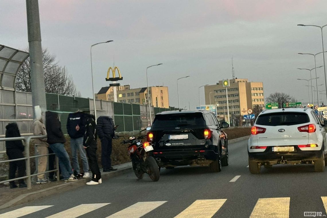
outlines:
[[227, 199], [196, 200], [175, 218], [211, 218], [223, 206]]

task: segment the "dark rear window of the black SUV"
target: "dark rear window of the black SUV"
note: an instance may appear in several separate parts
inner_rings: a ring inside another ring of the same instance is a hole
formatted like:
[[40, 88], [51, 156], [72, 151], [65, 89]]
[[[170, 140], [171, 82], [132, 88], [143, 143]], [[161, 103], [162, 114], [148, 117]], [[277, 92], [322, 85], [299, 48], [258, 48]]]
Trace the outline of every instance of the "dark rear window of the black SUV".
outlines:
[[152, 127], [205, 126], [203, 113], [158, 114]]

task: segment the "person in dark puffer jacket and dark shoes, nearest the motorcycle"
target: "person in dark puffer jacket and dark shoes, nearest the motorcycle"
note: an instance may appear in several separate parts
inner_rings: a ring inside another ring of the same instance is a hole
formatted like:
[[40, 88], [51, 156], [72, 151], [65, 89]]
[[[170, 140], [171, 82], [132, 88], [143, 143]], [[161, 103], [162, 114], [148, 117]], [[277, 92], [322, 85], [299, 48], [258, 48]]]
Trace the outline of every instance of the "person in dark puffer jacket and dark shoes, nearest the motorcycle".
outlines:
[[100, 116], [97, 119], [96, 131], [101, 140], [101, 162], [103, 172], [115, 171], [111, 166], [112, 138], [115, 135], [116, 126], [108, 116]]

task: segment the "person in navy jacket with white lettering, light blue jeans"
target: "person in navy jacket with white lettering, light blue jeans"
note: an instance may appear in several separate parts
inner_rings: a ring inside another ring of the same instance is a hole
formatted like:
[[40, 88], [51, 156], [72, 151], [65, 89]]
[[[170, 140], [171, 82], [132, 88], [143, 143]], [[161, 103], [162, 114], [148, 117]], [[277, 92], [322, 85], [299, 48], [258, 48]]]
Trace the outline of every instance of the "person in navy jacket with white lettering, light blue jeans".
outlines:
[[[85, 133], [85, 125], [83, 124], [83, 112], [70, 113], [67, 118], [67, 133], [70, 137], [70, 148], [72, 149], [73, 167], [75, 175], [89, 178], [89, 163], [87, 162], [86, 152], [83, 148], [83, 137]], [[82, 159], [84, 174], [80, 174], [77, 151]]]

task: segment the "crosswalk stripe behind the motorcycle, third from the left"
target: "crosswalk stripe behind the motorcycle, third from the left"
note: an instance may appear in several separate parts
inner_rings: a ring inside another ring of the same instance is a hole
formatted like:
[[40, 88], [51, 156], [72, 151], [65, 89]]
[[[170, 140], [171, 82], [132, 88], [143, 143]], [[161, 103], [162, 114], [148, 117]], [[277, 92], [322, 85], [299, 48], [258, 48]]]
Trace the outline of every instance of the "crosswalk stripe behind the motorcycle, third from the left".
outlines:
[[107, 218], [139, 218], [144, 216], [151, 210], [163, 205], [167, 201], [149, 201], [149, 202], [137, 202], [124, 210], [118, 211]]

